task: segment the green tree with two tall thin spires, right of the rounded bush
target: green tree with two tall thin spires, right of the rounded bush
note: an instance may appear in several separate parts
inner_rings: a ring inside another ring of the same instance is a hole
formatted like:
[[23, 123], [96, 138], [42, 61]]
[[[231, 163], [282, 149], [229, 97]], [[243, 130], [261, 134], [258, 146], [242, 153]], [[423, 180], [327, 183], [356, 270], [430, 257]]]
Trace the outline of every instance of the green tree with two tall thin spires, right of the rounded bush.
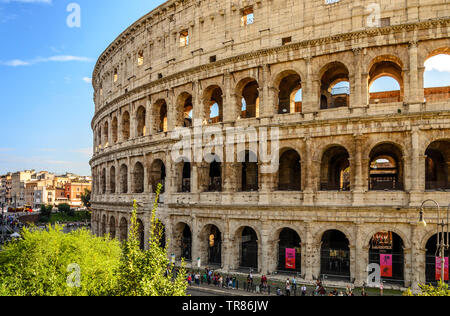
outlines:
[[131, 228], [124, 243], [123, 256], [119, 268], [117, 295], [124, 296], [184, 296], [187, 283], [184, 263], [176, 269], [169, 261], [167, 249], [161, 246], [162, 225], [156, 218], [159, 194], [156, 190], [150, 223], [149, 249], [139, 247], [137, 204], [134, 201]]

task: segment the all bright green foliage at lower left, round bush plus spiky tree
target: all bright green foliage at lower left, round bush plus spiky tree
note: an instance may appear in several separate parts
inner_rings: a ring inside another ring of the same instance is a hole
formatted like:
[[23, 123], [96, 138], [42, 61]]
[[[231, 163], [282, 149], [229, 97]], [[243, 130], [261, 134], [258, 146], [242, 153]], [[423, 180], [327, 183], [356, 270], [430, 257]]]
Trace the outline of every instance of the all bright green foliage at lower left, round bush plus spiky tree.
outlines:
[[177, 271], [161, 246], [162, 225], [156, 218], [160, 190], [158, 186], [148, 250], [139, 247], [136, 202], [122, 246], [87, 230], [24, 229], [22, 240], [0, 252], [0, 296], [184, 296], [184, 268]]

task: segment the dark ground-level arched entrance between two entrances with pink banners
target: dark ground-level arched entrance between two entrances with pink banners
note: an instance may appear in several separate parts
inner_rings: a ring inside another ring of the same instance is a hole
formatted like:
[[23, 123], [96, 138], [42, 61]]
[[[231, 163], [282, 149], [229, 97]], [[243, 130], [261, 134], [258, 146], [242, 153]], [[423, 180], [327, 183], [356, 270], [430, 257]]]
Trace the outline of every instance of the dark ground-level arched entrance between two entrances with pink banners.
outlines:
[[329, 230], [322, 236], [320, 274], [328, 279], [350, 280], [349, 242], [338, 230]]

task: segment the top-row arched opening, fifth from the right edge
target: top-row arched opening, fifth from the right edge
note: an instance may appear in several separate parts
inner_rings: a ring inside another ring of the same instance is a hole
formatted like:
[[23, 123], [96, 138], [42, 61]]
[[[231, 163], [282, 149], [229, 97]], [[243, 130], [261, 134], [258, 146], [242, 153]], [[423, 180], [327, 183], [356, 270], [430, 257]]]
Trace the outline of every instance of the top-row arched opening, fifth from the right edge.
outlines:
[[254, 78], [247, 77], [236, 85], [236, 96], [241, 118], [259, 117], [259, 84]]

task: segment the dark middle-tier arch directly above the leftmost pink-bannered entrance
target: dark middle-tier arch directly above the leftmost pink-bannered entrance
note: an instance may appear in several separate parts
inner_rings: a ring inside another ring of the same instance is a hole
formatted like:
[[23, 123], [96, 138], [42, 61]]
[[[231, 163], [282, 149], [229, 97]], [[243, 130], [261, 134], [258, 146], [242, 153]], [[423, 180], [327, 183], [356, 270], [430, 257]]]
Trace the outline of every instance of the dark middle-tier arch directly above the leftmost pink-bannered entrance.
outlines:
[[283, 148], [280, 151], [278, 190], [301, 191], [301, 170], [301, 157], [298, 151], [292, 148]]

